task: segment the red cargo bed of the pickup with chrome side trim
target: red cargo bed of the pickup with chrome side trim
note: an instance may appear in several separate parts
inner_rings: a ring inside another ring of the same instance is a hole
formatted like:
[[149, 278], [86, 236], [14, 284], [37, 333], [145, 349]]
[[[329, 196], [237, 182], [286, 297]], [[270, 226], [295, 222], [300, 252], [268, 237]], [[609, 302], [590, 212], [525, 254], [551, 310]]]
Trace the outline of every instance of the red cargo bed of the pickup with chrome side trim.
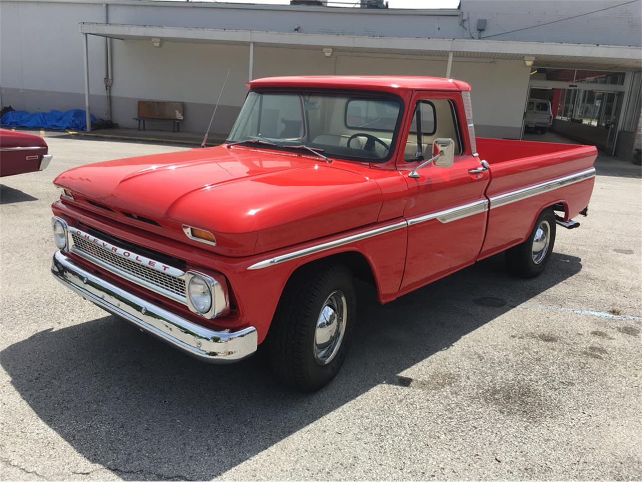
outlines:
[[478, 138], [477, 152], [490, 165], [490, 210], [480, 258], [523, 242], [548, 206], [563, 206], [564, 220], [573, 219], [593, 192], [594, 146]]

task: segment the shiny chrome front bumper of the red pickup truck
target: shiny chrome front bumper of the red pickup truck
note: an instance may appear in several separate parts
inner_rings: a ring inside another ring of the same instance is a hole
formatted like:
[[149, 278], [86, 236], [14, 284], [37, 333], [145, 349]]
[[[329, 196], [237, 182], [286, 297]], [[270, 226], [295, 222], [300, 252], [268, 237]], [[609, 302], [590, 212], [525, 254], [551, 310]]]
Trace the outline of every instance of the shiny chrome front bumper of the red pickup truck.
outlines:
[[103, 310], [207, 362], [239, 361], [256, 352], [256, 328], [215, 332], [123, 290], [82, 269], [60, 251], [53, 255], [51, 272], [63, 285]]

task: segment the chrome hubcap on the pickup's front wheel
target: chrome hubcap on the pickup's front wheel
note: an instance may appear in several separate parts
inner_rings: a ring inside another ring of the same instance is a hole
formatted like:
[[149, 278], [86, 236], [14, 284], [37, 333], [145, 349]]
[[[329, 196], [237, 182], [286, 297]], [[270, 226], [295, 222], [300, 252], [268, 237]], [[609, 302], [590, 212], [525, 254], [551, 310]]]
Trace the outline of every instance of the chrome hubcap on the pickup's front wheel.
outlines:
[[315, 327], [315, 361], [320, 365], [327, 365], [339, 351], [345, 321], [347, 319], [347, 303], [345, 296], [340, 291], [333, 291], [325, 299]]

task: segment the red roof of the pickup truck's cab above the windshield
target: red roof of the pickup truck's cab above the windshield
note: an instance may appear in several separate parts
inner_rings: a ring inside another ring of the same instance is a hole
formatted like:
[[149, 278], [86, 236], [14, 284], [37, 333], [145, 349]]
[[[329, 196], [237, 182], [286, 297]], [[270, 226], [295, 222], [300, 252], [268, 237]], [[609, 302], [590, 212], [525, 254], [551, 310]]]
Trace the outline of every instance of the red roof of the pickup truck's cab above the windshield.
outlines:
[[247, 82], [250, 89], [265, 87], [312, 87], [317, 89], [350, 89], [398, 92], [469, 91], [471, 86], [462, 80], [442, 77], [389, 75], [296, 75], [257, 78]]

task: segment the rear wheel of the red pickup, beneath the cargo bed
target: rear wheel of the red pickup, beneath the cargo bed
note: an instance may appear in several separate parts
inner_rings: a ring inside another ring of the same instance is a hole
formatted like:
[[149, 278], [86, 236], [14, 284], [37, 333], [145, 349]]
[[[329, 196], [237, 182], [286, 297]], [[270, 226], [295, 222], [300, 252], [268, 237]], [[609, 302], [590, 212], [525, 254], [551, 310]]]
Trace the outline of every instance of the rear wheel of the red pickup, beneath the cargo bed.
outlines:
[[521, 278], [534, 278], [546, 268], [555, 244], [555, 213], [542, 211], [525, 242], [506, 251], [508, 271]]

